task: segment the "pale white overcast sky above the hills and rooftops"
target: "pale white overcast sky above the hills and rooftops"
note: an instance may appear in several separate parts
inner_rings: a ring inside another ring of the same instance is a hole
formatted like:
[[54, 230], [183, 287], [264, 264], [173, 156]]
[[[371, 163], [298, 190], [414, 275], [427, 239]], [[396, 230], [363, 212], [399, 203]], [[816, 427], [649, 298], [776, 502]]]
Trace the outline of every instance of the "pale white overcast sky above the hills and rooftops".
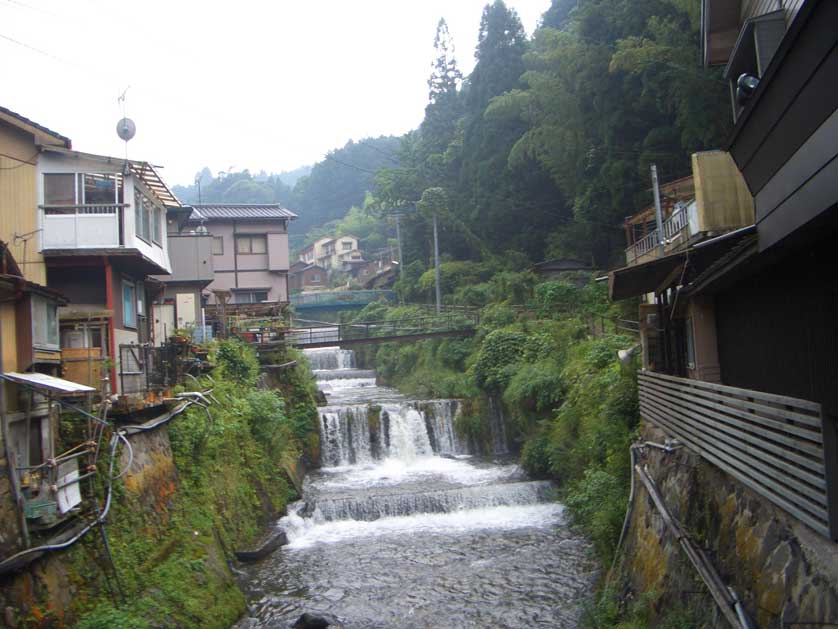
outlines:
[[[0, 0], [0, 105], [170, 185], [269, 172], [422, 120], [445, 17], [465, 74], [486, 0]], [[532, 34], [550, 0], [507, 0]]]

